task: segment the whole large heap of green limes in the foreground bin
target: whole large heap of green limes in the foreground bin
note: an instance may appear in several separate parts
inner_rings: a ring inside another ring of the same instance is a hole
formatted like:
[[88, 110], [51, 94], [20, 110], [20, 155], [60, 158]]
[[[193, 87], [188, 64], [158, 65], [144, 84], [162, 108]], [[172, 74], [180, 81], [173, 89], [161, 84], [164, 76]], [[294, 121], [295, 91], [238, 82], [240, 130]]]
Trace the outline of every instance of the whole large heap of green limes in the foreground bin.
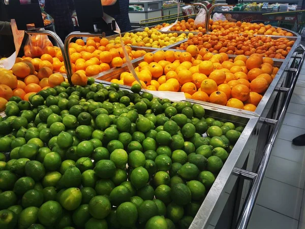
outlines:
[[137, 86], [89, 84], [8, 102], [1, 228], [188, 228], [243, 128]]

